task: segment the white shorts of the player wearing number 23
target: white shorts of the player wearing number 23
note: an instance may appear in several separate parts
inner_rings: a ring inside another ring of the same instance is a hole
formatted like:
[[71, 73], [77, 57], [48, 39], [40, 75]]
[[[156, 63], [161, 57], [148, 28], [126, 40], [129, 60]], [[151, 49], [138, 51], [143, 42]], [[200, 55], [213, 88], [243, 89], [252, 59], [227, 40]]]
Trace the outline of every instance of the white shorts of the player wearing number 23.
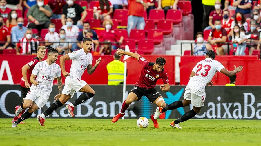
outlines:
[[205, 105], [206, 93], [200, 92], [190, 86], [186, 86], [184, 99], [190, 100], [195, 107], [201, 107]]

